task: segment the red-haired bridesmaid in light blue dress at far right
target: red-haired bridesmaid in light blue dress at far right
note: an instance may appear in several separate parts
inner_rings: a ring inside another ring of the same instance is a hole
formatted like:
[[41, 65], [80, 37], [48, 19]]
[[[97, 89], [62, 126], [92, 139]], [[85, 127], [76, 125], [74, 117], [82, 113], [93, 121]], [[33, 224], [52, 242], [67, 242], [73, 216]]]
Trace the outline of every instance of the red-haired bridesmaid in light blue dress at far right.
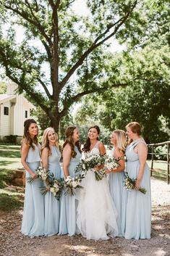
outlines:
[[[147, 145], [141, 136], [141, 126], [137, 122], [127, 126], [129, 145], [126, 149], [126, 171], [129, 178], [137, 179], [135, 189], [123, 191], [122, 232], [125, 239], [150, 239], [151, 198], [150, 171], [146, 163]], [[146, 194], [138, 191], [140, 187]]]

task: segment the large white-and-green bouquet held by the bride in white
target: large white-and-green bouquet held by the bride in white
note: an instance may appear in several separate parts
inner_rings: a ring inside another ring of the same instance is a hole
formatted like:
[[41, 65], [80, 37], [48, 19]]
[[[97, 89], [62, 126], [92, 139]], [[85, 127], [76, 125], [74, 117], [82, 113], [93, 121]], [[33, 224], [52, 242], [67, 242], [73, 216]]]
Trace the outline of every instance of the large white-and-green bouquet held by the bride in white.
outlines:
[[[80, 163], [75, 169], [75, 173], [87, 174], [88, 170], [95, 168], [95, 166], [103, 165], [106, 160], [106, 156], [100, 156], [99, 154], [85, 154], [85, 159], [80, 160]], [[101, 181], [105, 176], [104, 170], [95, 170], [96, 181]]]

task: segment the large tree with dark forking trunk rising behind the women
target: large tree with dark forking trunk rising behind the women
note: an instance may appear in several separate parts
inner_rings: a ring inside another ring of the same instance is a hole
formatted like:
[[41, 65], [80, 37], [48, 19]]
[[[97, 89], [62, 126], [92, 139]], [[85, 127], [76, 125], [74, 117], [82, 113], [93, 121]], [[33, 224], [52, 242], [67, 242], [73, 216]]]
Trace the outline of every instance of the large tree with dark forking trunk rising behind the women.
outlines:
[[[25, 91], [46, 112], [56, 131], [69, 107], [82, 96], [122, 86], [118, 79], [108, 83], [103, 48], [140, 13], [137, 0], [89, 0], [89, 17], [80, 17], [72, 11], [74, 2], [0, 0], [1, 24], [10, 24], [7, 36], [0, 34], [1, 66], [19, 92]], [[25, 31], [20, 44], [14, 25]]]

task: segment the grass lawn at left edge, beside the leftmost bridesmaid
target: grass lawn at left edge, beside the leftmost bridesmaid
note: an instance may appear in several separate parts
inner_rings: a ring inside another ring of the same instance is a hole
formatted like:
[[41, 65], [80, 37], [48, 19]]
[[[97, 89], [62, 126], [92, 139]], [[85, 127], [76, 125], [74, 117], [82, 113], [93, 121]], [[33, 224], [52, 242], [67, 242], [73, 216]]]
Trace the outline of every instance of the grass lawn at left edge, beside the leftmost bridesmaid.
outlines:
[[10, 189], [12, 173], [22, 168], [20, 146], [0, 145], [0, 210], [9, 212], [19, 210], [23, 205], [23, 192]]

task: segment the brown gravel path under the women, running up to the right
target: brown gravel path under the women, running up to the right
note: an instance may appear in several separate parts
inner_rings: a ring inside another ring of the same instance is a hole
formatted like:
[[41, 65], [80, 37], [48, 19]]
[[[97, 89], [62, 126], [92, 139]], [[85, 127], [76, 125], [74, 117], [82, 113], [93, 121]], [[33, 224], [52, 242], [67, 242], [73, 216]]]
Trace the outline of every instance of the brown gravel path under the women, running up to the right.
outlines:
[[170, 256], [170, 186], [151, 179], [151, 239], [107, 241], [82, 236], [25, 237], [20, 234], [22, 212], [0, 212], [0, 256]]

